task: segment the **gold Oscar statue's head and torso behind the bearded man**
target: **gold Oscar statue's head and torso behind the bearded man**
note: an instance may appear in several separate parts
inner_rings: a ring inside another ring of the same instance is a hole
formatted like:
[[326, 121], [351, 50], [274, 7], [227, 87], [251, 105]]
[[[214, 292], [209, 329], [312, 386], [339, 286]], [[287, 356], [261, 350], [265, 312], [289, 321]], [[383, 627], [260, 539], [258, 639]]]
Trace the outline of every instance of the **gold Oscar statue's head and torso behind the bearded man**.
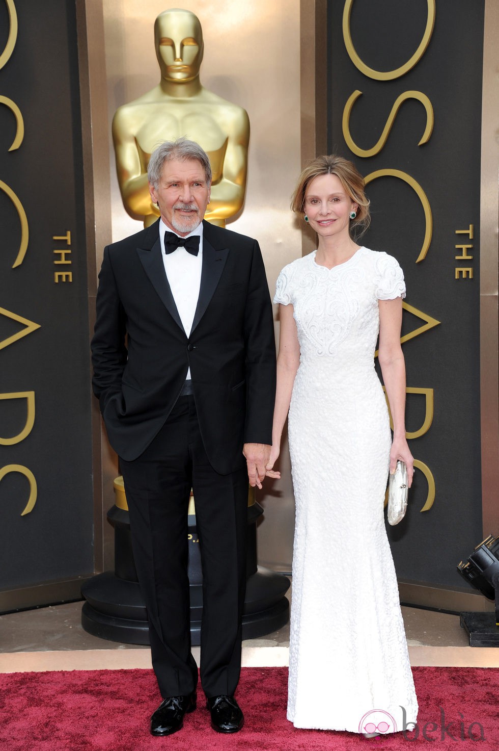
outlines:
[[[197, 141], [212, 164], [212, 200], [205, 219], [219, 227], [242, 208], [248, 164], [246, 110], [207, 91], [200, 83], [201, 25], [191, 11], [171, 8], [155, 21], [161, 68], [158, 86], [116, 110], [113, 142], [123, 204], [149, 227], [159, 216], [147, 183], [150, 155], [164, 140]], [[228, 61], [230, 64], [230, 60]]]

